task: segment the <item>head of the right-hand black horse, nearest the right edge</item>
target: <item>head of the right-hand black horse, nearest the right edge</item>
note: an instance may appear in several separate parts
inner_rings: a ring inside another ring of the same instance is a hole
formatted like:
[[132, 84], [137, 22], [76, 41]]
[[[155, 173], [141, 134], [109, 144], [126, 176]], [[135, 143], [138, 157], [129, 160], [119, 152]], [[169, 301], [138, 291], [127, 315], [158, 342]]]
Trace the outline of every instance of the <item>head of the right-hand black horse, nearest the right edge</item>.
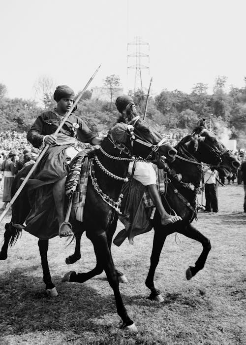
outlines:
[[[198, 123], [198, 126], [194, 129], [192, 136], [198, 136], [200, 140], [203, 140], [203, 144], [199, 145], [203, 155], [206, 154], [206, 151], [215, 151], [220, 159], [220, 162], [215, 164], [218, 171], [222, 171], [225, 176], [232, 176], [233, 173], [237, 173], [237, 170], [240, 167], [240, 162], [234, 156], [234, 154], [216, 137], [215, 133], [206, 128], [204, 119]], [[205, 161], [203, 162], [207, 163]]]

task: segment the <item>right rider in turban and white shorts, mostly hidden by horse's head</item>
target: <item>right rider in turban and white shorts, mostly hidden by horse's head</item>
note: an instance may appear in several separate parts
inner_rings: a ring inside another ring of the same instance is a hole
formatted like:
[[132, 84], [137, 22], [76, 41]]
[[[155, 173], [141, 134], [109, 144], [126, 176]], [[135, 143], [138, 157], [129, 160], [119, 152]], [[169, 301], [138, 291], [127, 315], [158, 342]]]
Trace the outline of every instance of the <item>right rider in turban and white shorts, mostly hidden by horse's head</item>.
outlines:
[[[125, 119], [127, 117], [126, 110], [131, 109], [135, 116], [137, 116], [137, 111], [135, 108], [135, 104], [133, 99], [130, 96], [122, 95], [119, 96], [116, 100], [116, 107], [118, 111], [121, 113], [119, 121], [125, 122]], [[129, 163], [128, 167], [128, 173], [131, 175], [133, 170], [133, 162]], [[179, 220], [182, 220], [180, 216], [177, 215], [170, 215], [167, 213], [165, 208], [163, 207], [161, 197], [159, 195], [157, 185], [156, 185], [156, 170], [157, 167], [155, 164], [150, 164], [148, 162], [140, 162], [138, 161], [135, 164], [135, 170], [134, 170], [134, 179], [141, 182], [144, 186], [148, 188], [148, 192], [150, 194], [151, 199], [153, 200], [153, 203], [155, 207], [158, 209], [161, 219], [162, 225], [167, 225], [171, 223], [176, 223]], [[131, 210], [134, 212], [134, 210]]]

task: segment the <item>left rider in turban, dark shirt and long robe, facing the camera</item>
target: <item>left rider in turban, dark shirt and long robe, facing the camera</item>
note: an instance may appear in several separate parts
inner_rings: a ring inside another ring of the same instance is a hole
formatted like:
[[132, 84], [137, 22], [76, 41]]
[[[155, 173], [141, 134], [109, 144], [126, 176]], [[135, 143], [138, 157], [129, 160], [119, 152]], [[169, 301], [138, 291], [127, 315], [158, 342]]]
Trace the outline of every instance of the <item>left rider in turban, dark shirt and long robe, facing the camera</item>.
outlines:
[[[97, 137], [86, 123], [73, 113], [63, 124], [60, 133], [54, 135], [62, 118], [74, 103], [74, 91], [67, 85], [60, 85], [55, 90], [54, 100], [57, 102], [57, 107], [54, 110], [41, 113], [27, 134], [28, 141], [34, 147], [41, 148], [45, 144], [50, 145], [28, 182], [29, 197], [33, 203], [30, 202], [32, 209], [27, 217], [25, 230], [40, 239], [52, 238], [57, 235], [55, 225], [50, 226], [50, 232], [44, 234], [46, 231], [44, 230], [45, 220], [42, 222], [41, 219], [45, 218], [46, 215], [47, 221], [49, 214], [47, 198], [52, 200], [56, 206], [56, 214], [54, 213], [54, 217], [51, 218], [58, 220], [59, 235], [62, 237], [73, 234], [72, 229], [67, 224], [61, 227], [64, 222], [65, 180], [68, 164], [79, 152], [79, 149], [75, 147], [76, 139], [92, 145], [100, 144], [102, 141], [102, 138]], [[37, 213], [39, 214], [37, 215]], [[55, 224], [55, 222], [50, 221], [51, 223]]]

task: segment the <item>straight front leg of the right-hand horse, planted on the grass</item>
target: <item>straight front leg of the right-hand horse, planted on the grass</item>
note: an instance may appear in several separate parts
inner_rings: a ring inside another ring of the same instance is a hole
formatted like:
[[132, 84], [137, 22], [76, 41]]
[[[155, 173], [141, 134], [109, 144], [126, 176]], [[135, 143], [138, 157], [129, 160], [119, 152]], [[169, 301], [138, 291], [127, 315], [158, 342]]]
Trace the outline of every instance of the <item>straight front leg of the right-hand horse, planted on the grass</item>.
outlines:
[[151, 265], [150, 265], [148, 276], [145, 280], [145, 285], [151, 290], [150, 299], [159, 301], [159, 302], [162, 302], [163, 298], [161, 297], [159, 290], [157, 290], [154, 287], [154, 273], [159, 263], [161, 250], [163, 248], [163, 244], [165, 240], [166, 240], [166, 235], [164, 233], [164, 230], [156, 229], [154, 231], [154, 241], [153, 241], [153, 247], [152, 247], [152, 253], [151, 253]]

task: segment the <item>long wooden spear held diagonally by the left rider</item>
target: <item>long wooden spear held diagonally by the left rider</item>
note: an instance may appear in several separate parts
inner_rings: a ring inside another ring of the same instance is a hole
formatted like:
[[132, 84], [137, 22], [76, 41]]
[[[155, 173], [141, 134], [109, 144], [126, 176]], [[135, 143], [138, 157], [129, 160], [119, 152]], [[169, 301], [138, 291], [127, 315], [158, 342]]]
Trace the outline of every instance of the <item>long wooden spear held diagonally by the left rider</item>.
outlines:
[[[86, 89], [88, 88], [88, 86], [91, 84], [92, 79], [94, 78], [94, 76], [96, 75], [98, 69], [101, 67], [101, 65], [94, 71], [94, 73], [92, 74], [91, 78], [88, 80], [86, 86], [84, 87], [84, 89], [80, 92], [80, 94], [78, 95], [78, 97], [76, 98], [74, 104], [71, 106], [71, 108], [68, 110], [68, 112], [66, 113], [66, 115], [62, 118], [62, 121], [60, 123], [60, 125], [58, 126], [56, 132], [54, 133], [54, 135], [58, 134], [62, 128], [62, 126], [64, 125], [64, 123], [66, 122], [66, 120], [68, 119], [68, 117], [71, 115], [71, 112], [73, 111], [74, 107], [76, 106], [76, 104], [79, 102], [79, 100], [81, 99], [83, 93], [86, 91]], [[14, 204], [15, 200], [18, 198], [19, 194], [21, 193], [22, 189], [24, 188], [24, 186], [26, 185], [27, 181], [29, 180], [31, 174], [34, 172], [34, 170], [36, 169], [38, 163], [41, 161], [41, 159], [43, 158], [45, 152], [48, 150], [48, 148], [50, 147], [49, 144], [46, 144], [45, 147], [42, 149], [42, 151], [40, 152], [39, 156], [37, 157], [37, 160], [35, 162], [35, 164], [33, 164], [31, 170], [29, 171], [29, 173], [27, 174], [27, 176], [24, 178], [22, 184], [20, 185], [20, 187], [18, 188], [18, 190], [16, 191], [15, 195], [13, 196], [13, 198], [10, 200], [10, 202], [8, 203], [8, 205], [6, 206], [6, 208], [4, 209], [4, 211], [2, 212], [2, 214], [0, 215], [0, 223], [2, 221], [2, 219], [5, 217], [5, 215], [7, 214], [8, 210], [10, 209], [10, 207]]]

